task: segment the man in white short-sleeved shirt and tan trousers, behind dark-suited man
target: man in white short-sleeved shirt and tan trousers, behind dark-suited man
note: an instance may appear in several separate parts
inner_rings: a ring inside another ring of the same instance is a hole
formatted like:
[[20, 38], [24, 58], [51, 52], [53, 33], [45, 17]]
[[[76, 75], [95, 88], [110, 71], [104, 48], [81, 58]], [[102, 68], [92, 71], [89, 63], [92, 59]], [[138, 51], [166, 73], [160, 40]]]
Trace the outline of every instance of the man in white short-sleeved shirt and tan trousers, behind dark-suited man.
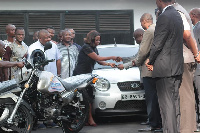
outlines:
[[[180, 132], [190, 133], [196, 130], [195, 94], [194, 94], [194, 72], [196, 68], [195, 59], [198, 62], [199, 53], [194, 39], [192, 22], [188, 12], [175, 0], [173, 7], [180, 13], [183, 25], [183, 57], [184, 72], [182, 83], [179, 88], [180, 95]], [[196, 58], [195, 58], [196, 57]]]

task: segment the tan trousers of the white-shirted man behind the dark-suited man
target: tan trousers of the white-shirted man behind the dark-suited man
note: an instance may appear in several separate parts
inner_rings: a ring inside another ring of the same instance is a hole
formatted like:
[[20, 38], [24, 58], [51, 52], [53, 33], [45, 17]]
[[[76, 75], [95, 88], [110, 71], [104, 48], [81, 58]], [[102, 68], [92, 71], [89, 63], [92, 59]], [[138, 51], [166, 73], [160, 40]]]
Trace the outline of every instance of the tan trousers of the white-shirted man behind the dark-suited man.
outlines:
[[194, 95], [194, 63], [184, 63], [180, 94], [180, 132], [193, 133], [196, 130], [196, 112]]

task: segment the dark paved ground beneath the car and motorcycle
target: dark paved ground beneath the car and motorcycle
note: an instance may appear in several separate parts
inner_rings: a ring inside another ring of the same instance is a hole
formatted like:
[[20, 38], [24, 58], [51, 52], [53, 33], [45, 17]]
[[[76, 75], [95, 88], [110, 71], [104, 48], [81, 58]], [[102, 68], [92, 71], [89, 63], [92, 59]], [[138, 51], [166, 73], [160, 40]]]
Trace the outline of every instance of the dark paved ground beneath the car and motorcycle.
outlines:
[[[79, 133], [138, 133], [138, 129], [146, 127], [140, 125], [143, 121], [146, 121], [146, 116], [103, 118], [97, 120], [97, 127], [85, 126]], [[48, 128], [32, 133], [62, 133], [62, 130], [61, 128]]]

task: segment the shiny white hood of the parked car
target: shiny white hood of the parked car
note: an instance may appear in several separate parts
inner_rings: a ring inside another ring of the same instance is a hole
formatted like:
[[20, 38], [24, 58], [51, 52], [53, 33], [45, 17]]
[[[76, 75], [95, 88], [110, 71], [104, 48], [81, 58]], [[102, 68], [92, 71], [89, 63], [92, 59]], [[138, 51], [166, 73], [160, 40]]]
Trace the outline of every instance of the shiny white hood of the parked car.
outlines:
[[110, 83], [140, 81], [140, 71], [138, 67], [127, 70], [119, 70], [118, 68], [98, 69], [93, 70], [92, 74], [97, 74], [100, 77], [106, 78]]

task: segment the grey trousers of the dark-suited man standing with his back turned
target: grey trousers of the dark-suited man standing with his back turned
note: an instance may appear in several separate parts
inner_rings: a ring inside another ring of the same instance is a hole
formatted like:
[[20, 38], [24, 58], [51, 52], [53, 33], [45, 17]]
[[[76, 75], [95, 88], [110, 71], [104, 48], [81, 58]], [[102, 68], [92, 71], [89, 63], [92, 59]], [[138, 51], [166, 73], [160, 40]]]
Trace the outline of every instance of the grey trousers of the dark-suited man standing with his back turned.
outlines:
[[181, 80], [182, 75], [156, 78], [163, 133], [179, 133]]

